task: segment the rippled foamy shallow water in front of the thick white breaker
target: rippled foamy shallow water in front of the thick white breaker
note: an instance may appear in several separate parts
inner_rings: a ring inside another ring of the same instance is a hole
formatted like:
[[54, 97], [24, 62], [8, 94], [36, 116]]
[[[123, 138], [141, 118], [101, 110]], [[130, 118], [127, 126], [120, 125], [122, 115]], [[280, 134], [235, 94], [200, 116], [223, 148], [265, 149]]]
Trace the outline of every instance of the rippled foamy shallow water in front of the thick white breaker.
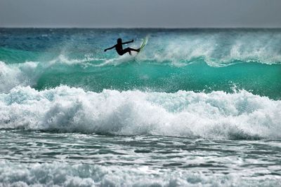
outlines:
[[0, 185], [278, 186], [281, 141], [1, 130]]

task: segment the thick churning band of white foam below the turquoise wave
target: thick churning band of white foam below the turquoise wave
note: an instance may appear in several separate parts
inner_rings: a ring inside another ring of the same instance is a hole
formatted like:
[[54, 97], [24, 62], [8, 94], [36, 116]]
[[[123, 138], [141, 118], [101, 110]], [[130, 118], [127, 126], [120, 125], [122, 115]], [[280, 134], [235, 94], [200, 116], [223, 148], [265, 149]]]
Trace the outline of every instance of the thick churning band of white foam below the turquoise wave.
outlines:
[[0, 95], [0, 127], [58, 132], [281, 139], [281, 101], [247, 91], [176, 93], [60, 86]]

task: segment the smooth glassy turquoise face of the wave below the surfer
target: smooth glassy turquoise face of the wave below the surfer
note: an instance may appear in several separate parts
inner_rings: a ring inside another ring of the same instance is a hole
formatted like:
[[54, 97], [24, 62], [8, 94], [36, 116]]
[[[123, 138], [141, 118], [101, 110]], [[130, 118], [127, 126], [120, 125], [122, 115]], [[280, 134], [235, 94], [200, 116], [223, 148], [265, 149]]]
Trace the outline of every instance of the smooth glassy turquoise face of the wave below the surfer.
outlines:
[[55, 88], [58, 85], [81, 87], [101, 92], [113, 90], [150, 90], [177, 92], [190, 90], [211, 92], [244, 89], [256, 95], [281, 98], [281, 66], [257, 63], [209, 67], [202, 60], [185, 67], [128, 62], [115, 67], [81, 67], [58, 65], [44, 71], [35, 88]]

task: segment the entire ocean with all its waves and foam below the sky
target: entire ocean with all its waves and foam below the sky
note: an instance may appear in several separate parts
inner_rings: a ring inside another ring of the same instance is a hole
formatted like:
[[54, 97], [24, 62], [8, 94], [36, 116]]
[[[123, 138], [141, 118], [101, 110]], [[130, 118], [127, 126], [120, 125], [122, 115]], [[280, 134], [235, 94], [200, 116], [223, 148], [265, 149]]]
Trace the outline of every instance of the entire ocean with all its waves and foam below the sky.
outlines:
[[0, 186], [281, 186], [280, 80], [281, 29], [0, 29]]

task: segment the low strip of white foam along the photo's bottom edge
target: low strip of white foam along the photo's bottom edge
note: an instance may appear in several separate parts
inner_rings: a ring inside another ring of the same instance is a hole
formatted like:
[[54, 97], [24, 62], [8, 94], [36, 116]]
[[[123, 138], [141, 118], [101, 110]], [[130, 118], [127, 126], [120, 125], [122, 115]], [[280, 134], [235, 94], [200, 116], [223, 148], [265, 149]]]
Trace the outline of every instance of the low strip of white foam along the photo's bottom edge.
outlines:
[[0, 186], [280, 186], [279, 176], [241, 175], [66, 162], [0, 162]]

